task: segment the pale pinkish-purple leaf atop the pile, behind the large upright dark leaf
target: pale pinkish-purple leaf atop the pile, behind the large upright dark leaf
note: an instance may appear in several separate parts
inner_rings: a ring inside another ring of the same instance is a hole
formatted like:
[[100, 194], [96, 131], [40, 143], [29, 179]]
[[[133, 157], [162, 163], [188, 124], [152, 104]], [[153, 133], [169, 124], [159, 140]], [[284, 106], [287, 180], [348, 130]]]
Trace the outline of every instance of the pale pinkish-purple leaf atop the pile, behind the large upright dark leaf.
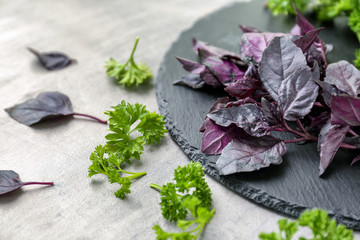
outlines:
[[284, 33], [244, 33], [240, 39], [242, 59], [253, 59], [260, 62], [264, 50], [275, 37], [284, 36]]

